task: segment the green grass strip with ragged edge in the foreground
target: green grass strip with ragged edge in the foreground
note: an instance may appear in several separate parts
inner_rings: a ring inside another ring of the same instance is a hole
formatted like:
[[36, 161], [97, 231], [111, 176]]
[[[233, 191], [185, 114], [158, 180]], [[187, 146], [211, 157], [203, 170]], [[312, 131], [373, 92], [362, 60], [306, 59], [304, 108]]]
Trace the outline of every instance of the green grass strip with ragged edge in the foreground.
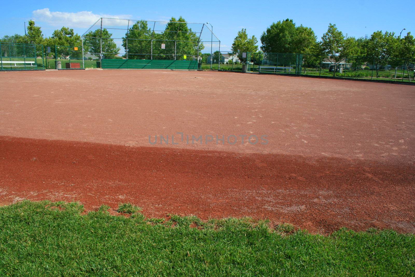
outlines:
[[128, 218], [108, 206], [23, 201], [0, 208], [0, 275], [414, 275], [415, 236], [270, 230], [249, 218]]

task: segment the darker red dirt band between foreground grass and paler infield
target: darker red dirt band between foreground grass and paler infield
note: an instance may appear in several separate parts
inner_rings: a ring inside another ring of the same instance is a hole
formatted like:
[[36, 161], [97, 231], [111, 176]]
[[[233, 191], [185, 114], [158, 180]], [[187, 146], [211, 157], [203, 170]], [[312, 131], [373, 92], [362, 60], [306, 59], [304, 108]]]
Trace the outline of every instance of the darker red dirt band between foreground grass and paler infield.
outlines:
[[312, 232], [415, 233], [414, 165], [0, 137], [0, 203], [120, 202], [146, 216], [252, 216]]

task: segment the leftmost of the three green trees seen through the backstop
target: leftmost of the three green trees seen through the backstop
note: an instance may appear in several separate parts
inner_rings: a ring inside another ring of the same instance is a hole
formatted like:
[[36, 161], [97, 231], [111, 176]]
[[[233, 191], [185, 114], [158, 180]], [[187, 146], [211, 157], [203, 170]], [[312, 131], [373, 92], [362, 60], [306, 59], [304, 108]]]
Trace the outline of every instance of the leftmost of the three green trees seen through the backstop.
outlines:
[[88, 32], [84, 36], [84, 51], [88, 51], [95, 56], [99, 56], [101, 53], [102, 37], [102, 53], [106, 59], [114, 58], [118, 52], [120, 52], [120, 47], [117, 47], [117, 44], [114, 42], [114, 39], [112, 39], [111, 36], [112, 34], [108, 32], [107, 29], [102, 29], [102, 32], [100, 29]]

